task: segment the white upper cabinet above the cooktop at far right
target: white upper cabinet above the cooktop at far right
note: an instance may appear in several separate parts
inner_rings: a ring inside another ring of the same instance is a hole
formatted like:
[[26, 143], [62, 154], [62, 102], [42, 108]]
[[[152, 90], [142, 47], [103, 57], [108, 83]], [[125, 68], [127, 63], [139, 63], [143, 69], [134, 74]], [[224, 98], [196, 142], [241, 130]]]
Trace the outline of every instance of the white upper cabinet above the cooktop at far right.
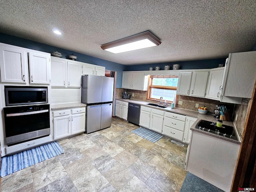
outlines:
[[256, 51], [230, 53], [226, 65], [222, 96], [252, 98], [256, 80]]

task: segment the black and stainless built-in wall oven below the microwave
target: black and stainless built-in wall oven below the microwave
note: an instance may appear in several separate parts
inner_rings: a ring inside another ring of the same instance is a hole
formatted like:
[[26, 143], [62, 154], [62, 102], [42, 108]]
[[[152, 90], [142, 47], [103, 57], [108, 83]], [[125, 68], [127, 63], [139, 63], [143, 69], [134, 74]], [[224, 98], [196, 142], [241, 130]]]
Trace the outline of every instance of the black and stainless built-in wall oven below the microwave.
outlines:
[[6, 144], [11, 146], [50, 135], [50, 105], [4, 108]]

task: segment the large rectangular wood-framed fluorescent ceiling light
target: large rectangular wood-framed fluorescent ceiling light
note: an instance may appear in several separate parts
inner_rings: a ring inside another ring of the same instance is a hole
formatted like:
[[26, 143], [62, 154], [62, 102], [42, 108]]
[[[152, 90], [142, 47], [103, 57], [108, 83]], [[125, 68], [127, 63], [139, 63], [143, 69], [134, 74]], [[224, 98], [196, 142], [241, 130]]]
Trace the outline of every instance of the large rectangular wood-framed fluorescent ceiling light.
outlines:
[[122, 53], [152, 46], [158, 46], [161, 41], [151, 32], [146, 31], [121, 40], [107, 43], [101, 46], [103, 50], [112, 53]]

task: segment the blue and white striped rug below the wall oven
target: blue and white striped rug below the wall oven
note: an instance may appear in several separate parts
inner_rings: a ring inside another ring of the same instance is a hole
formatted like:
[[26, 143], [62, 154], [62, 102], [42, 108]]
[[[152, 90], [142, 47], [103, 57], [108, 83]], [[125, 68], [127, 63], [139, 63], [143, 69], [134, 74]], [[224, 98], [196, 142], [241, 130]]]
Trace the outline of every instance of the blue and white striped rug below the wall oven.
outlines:
[[64, 153], [58, 142], [42, 145], [2, 158], [1, 177]]

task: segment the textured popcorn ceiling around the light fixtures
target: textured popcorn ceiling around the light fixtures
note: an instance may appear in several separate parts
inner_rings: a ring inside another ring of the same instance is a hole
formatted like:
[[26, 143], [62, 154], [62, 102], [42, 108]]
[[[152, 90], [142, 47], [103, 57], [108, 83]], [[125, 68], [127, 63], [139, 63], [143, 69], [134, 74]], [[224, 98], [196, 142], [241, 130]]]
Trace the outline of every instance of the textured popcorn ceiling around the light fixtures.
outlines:
[[[255, 0], [0, 0], [0, 32], [120, 64], [224, 58], [256, 43]], [[62, 36], [50, 29], [58, 28]], [[102, 44], [150, 30], [162, 44]], [[58, 51], [58, 50], [56, 50]]]

